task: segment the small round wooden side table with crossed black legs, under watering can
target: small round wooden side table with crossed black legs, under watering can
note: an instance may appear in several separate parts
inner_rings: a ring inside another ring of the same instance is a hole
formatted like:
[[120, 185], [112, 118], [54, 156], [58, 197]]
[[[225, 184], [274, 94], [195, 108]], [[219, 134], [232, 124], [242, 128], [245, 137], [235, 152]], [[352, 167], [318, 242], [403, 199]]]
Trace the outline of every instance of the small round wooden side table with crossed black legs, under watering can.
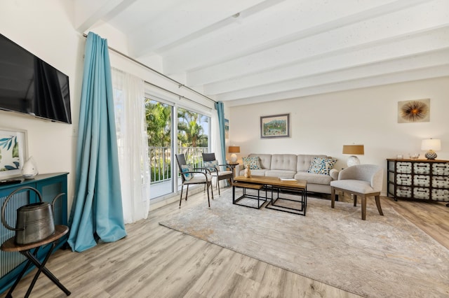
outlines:
[[[43, 274], [48, 276], [48, 278], [50, 278], [51, 281], [53, 281], [53, 283], [55, 283], [55, 285], [58, 285], [58, 287], [62, 290], [62, 292], [65, 292], [65, 295], [69, 296], [71, 294], [70, 291], [67, 290], [67, 288], [65, 288], [65, 286], [62, 285], [62, 283], [60, 283], [58, 278], [56, 278], [45, 267], [45, 264], [48, 261], [48, 258], [50, 257], [51, 253], [53, 253], [53, 249], [56, 246], [56, 241], [58, 241], [62, 236], [67, 234], [67, 232], [69, 232], [69, 227], [67, 227], [65, 225], [55, 225], [55, 234], [48, 236], [46, 239], [43, 239], [42, 241], [39, 241], [36, 243], [19, 245], [19, 244], [15, 244], [14, 237], [11, 237], [10, 239], [6, 240], [1, 245], [1, 250], [6, 251], [6, 252], [8, 252], [8, 251], [9, 252], [19, 252], [22, 255], [25, 255], [25, 257], [27, 257], [27, 259], [28, 259], [27, 264], [25, 265], [25, 267], [22, 269], [22, 271], [18, 275], [18, 277], [15, 280], [15, 283], [13, 284], [11, 289], [9, 289], [8, 294], [6, 294], [6, 297], [13, 297], [12, 296], [13, 290], [18, 285], [20, 279], [22, 279], [23, 275], [25, 274], [25, 272], [27, 271], [27, 269], [29, 268], [29, 266], [31, 264], [34, 264], [36, 266], [37, 272], [36, 272], [36, 275], [34, 275], [31, 285], [29, 285], [29, 288], [27, 290], [27, 294], [25, 295], [25, 297], [29, 297], [29, 294], [31, 294], [34, 284], [36, 283], [37, 278], [39, 278], [39, 274], [41, 274], [41, 272], [43, 272]], [[48, 244], [48, 243], [51, 243], [51, 245], [52, 245], [51, 249], [48, 250], [48, 253], [43, 258], [43, 261], [40, 262], [36, 257], [37, 252], [41, 246]], [[33, 249], [34, 249], [34, 252], [32, 252]]]

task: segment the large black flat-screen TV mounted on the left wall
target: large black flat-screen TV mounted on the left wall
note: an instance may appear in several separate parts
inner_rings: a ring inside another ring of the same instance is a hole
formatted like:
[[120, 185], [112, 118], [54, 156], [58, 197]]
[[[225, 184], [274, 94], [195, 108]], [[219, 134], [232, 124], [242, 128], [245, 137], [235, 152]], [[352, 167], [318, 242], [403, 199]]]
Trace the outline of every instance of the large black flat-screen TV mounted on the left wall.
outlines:
[[72, 123], [69, 77], [0, 34], [0, 109]]

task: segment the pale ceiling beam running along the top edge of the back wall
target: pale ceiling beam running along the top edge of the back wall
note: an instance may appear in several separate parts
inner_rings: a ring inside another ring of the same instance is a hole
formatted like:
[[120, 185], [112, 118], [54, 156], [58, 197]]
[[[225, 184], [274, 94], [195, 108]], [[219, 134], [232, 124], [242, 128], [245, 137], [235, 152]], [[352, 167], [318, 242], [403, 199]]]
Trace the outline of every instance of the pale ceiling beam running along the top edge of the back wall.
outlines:
[[[345, 81], [342, 79], [342, 81], [338, 83], [333, 83], [329, 85], [307, 87], [299, 90], [291, 90], [275, 94], [264, 94], [263, 96], [248, 97], [246, 99], [236, 99], [232, 101], [226, 101], [226, 105], [231, 107], [246, 104], [257, 104], [267, 101], [279, 101], [283, 99], [296, 99], [316, 94], [339, 92], [344, 90], [354, 90], [358, 88], [404, 83], [412, 80], [440, 78], [445, 76], [449, 76], [449, 64], [434, 66], [429, 69], [417, 69], [415, 71], [405, 71], [399, 73], [390, 73], [389, 75], [382, 75], [377, 77], [360, 78], [358, 80]], [[216, 100], [221, 101], [222, 99], [220, 99], [220, 97], [216, 97]]]

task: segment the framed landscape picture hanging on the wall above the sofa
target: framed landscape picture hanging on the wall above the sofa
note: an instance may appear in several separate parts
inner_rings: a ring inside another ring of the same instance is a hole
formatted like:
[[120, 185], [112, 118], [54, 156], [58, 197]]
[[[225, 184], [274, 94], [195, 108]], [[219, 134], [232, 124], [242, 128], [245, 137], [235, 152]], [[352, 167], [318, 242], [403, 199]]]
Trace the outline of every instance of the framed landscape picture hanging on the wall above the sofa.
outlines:
[[290, 114], [260, 117], [260, 138], [290, 137]]

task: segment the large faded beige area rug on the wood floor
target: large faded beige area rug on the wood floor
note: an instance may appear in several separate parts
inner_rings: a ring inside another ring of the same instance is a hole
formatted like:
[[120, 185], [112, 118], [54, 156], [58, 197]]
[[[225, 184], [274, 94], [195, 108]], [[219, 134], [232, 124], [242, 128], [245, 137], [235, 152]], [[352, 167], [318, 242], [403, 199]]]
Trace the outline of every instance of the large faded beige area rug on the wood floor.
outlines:
[[449, 297], [449, 250], [396, 213], [309, 196], [307, 214], [232, 204], [232, 191], [160, 225], [365, 297]]

